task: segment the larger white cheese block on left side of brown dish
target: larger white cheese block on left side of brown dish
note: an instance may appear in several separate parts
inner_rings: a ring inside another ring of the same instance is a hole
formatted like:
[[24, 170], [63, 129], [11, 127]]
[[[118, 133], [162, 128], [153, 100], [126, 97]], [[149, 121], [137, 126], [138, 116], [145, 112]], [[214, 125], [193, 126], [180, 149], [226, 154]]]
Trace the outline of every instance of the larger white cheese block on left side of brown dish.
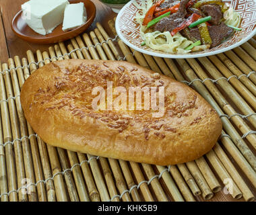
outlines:
[[50, 34], [63, 22], [66, 5], [67, 0], [30, 0], [22, 5], [22, 17], [38, 34]]

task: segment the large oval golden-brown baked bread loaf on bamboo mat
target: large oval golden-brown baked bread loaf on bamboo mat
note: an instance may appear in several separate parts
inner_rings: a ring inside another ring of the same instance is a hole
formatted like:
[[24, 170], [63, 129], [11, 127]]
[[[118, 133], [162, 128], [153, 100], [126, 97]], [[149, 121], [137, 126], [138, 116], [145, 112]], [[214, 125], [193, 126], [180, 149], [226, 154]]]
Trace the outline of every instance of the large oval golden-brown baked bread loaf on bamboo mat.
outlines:
[[[165, 112], [92, 110], [92, 88], [163, 86]], [[193, 161], [222, 131], [212, 106], [187, 85], [137, 64], [108, 60], [60, 60], [24, 83], [21, 103], [34, 131], [53, 146], [80, 153], [154, 165]]]

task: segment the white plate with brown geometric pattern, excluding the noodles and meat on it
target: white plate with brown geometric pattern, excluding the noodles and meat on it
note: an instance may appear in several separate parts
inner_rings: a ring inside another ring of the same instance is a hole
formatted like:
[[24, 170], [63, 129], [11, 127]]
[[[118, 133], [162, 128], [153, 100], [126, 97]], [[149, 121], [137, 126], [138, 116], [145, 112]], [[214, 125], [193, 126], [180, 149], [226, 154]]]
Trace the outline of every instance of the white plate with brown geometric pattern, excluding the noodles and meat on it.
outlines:
[[117, 15], [116, 30], [121, 40], [123, 40], [127, 46], [145, 54], [164, 58], [198, 58], [226, 52], [236, 46], [240, 46], [244, 42], [247, 42], [247, 40], [256, 34], [256, 0], [224, 0], [227, 5], [230, 5], [230, 7], [241, 14], [241, 28], [243, 29], [241, 32], [236, 32], [231, 38], [219, 46], [203, 52], [170, 54], [168, 52], [154, 50], [148, 46], [140, 45], [143, 40], [139, 35], [139, 24], [135, 22], [135, 14], [139, 11], [139, 9], [133, 4], [135, 1], [138, 5], [141, 5], [141, 0], [130, 1]]

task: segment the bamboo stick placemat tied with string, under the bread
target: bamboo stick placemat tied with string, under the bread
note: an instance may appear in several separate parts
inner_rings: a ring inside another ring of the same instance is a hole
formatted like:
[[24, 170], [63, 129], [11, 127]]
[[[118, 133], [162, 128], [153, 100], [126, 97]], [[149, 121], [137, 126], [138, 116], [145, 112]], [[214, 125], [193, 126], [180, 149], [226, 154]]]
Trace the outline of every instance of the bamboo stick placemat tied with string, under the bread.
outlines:
[[[49, 52], [28, 50], [27, 58], [0, 64], [1, 201], [203, 201], [220, 200], [220, 192], [255, 200], [256, 38], [215, 56], [172, 60], [132, 50], [115, 20], [108, 24], [114, 38], [97, 24]], [[186, 83], [216, 109], [222, 136], [204, 157], [168, 167], [47, 145], [24, 118], [20, 89], [38, 67], [68, 58], [127, 60]]]

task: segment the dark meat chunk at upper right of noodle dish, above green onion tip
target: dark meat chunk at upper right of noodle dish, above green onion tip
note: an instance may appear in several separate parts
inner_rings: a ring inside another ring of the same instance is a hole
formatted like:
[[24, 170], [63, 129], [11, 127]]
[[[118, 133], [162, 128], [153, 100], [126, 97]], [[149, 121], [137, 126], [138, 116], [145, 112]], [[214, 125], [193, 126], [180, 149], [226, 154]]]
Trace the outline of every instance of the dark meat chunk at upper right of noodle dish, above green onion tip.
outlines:
[[223, 17], [220, 5], [203, 5], [200, 7], [205, 16], [211, 16], [210, 24], [218, 25]]

